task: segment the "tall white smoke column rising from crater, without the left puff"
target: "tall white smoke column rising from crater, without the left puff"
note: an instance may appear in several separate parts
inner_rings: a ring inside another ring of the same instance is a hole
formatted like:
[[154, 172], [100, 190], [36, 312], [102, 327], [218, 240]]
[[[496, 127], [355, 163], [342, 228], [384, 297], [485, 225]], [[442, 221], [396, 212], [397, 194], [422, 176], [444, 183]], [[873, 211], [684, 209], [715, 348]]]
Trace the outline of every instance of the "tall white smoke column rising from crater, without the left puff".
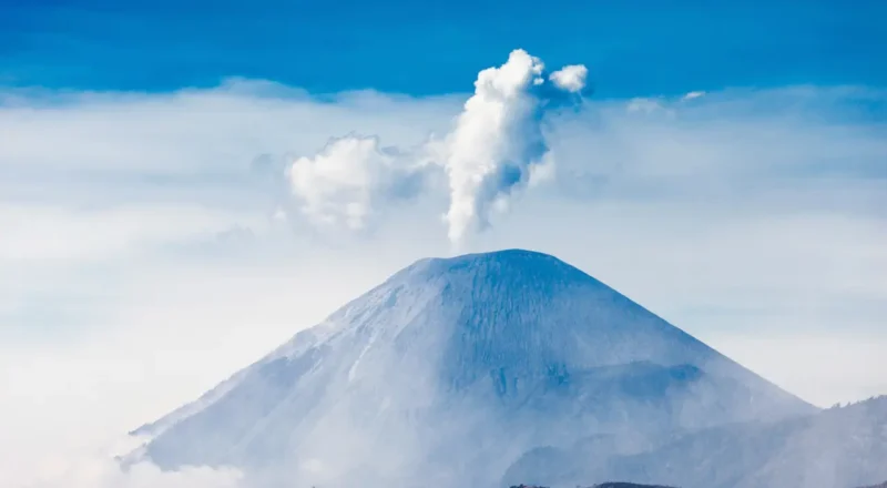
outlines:
[[[558, 91], [577, 93], [588, 70], [567, 67], [543, 78], [544, 64], [523, 50], [508, 62], [478, 73], [475, 95], [465, 103], [456, 129], [446, 138], [443, 166], [450, 186], [449, 238], [489, 225], [491, 209], [504, 206], [548, 153], [542, 115]], [[553, 90], [552, 90], [553, 89]]]

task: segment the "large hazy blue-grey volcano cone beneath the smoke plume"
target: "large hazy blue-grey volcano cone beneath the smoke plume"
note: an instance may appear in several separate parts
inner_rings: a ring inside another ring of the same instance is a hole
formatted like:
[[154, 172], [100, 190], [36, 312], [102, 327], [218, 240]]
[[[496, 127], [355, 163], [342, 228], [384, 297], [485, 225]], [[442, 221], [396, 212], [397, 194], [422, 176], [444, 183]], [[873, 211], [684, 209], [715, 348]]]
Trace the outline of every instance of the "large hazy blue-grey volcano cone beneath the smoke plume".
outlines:
[[495, 486], [536, 446], [634, 453], [810, 410], [581, 271], [502, 251], [405, 268], [140, 433], [165, 468]]

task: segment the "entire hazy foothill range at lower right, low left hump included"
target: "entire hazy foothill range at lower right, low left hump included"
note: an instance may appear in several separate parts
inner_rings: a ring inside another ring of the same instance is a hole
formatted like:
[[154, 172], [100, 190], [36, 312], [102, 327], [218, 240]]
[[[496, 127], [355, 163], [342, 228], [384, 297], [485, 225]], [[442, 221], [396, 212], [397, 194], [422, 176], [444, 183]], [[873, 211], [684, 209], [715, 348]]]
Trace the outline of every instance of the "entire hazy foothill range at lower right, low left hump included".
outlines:
[[536, 450], [507, 478], [552, 486], [632, 479], [683, 488], [847, 488], [887, 478], [887, 397], [782, 421], [721, 426], [646, 453], [598, 456], [582, 446]]

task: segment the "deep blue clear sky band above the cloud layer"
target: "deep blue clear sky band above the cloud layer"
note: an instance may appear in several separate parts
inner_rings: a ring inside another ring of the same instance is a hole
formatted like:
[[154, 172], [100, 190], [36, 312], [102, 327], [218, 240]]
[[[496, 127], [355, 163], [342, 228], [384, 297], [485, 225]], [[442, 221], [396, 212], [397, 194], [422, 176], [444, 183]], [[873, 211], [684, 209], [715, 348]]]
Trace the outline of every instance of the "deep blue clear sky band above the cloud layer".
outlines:
[[[853, 6], [853, 7], [847, 7]], [[842, 1], [2, 0], [0, 83], [465, 92], [523, 48], [601, 96], [887, 83], [887, 4]]]

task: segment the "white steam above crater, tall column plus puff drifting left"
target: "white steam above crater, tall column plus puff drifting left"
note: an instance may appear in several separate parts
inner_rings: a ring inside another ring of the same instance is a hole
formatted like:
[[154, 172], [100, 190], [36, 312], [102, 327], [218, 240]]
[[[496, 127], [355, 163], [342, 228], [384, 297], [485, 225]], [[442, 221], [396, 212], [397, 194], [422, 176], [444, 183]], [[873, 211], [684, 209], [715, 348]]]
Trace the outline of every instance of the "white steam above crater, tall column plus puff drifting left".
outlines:
[[448, 236], [457, 243], [488, 227], [517, 191], [551, 174], [543, 116], [579, 100], [587, 77], [584, 65], [569, 65], [546, 78], [541, 60], [514, 50], [501, 67], [478, 73], [475, 94], [443, 138], [417, 150], [381, 149], [376, 138], [333, 140], [290, 165], [292, 191], [313, 222], [358, 230], [379, 204], [415, 196], [427, 181], [422, 173], [442, 170]]

